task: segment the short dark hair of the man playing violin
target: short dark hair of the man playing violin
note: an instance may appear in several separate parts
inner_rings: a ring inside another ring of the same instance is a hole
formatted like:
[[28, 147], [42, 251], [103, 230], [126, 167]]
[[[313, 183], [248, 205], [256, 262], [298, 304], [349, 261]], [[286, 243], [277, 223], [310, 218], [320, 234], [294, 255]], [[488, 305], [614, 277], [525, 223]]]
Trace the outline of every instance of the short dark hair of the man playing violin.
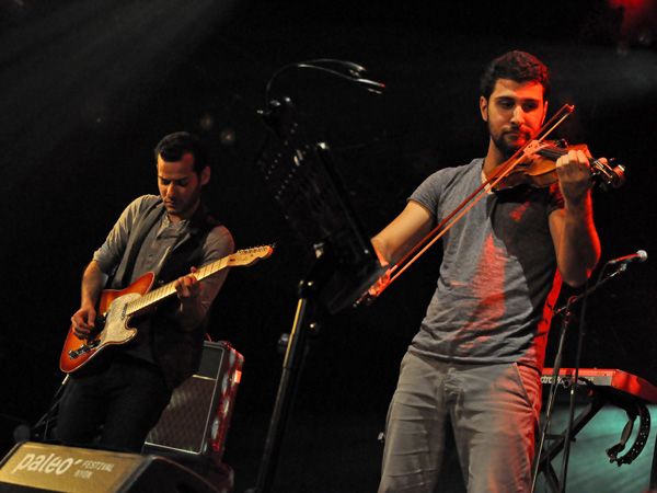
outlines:
[[499, 79], [514, 82], [538, 82], [543, 87], [543, 101], [550, 98], [550, 72], [533, 55], [526, 51], [508, 51], [495, 58], [484, 71], [480, 88], [482, 95], [488, 100]]

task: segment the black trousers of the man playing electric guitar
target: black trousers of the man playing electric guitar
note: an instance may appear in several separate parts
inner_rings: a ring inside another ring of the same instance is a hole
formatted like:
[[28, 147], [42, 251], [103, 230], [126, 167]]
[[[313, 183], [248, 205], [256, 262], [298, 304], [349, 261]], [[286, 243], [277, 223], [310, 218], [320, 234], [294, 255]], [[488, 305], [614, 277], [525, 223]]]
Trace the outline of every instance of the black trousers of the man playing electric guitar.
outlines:
[[157, 366], [112, 356], [68, 379], [56, 429], [65, 445], [139, 452], [169, 404], [172, 391]]

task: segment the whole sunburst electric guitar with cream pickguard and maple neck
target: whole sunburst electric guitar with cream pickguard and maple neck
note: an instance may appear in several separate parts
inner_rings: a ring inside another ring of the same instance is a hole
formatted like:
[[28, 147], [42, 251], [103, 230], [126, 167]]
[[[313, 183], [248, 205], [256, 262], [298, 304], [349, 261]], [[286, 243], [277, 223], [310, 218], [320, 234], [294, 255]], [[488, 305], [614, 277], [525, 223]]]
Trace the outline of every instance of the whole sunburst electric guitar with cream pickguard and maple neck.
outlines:
[[[201, 280], [226, 267], [253, 265], [261, 259], [268, 257], [273, 252], [272, 246], [239, 250], [232, 255], [219, 259], [189, 275]], [[95, 320], [94, 330], [84, 340], [80, 340], [73, 334], [72, 326], [69, 329], [59, 358], [61, 370], [67, 374], [74, 371], [93, 359], [104, 347], [124, 344], [135, 337], [137, 329], [128, 326], [130, 319], [135, 316], [145, 314], [155, 303], [176, 293], [175, 280], [151, 291], [150, 288], [154, 278], [155, 275], [149, 272], [125, 289], [105, 289], [101, 294], [96, 307], [99, 316]]]

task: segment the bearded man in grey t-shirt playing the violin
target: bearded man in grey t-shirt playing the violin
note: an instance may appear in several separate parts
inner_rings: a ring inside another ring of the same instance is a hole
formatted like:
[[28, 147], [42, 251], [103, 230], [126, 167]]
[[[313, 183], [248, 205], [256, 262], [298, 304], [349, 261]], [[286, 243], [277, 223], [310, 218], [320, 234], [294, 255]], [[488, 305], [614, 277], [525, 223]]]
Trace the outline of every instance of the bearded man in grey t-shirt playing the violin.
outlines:
[[[485, 158], [420, 184], [372, 239], [383, 264], [404, 257], [541, 129], [550, 79], [534, 56], [496, 58], [481, 91]], [[568, 151], [556, 174], [549, 187], [487, 190], [442, 236], [437, 289], [389, 410], [380, 492], [433, 492], [450, 426], [470, 493], [530, 490], [552, 308], [562, 280], [583, 285], [600, 257], [587, 157]]]

